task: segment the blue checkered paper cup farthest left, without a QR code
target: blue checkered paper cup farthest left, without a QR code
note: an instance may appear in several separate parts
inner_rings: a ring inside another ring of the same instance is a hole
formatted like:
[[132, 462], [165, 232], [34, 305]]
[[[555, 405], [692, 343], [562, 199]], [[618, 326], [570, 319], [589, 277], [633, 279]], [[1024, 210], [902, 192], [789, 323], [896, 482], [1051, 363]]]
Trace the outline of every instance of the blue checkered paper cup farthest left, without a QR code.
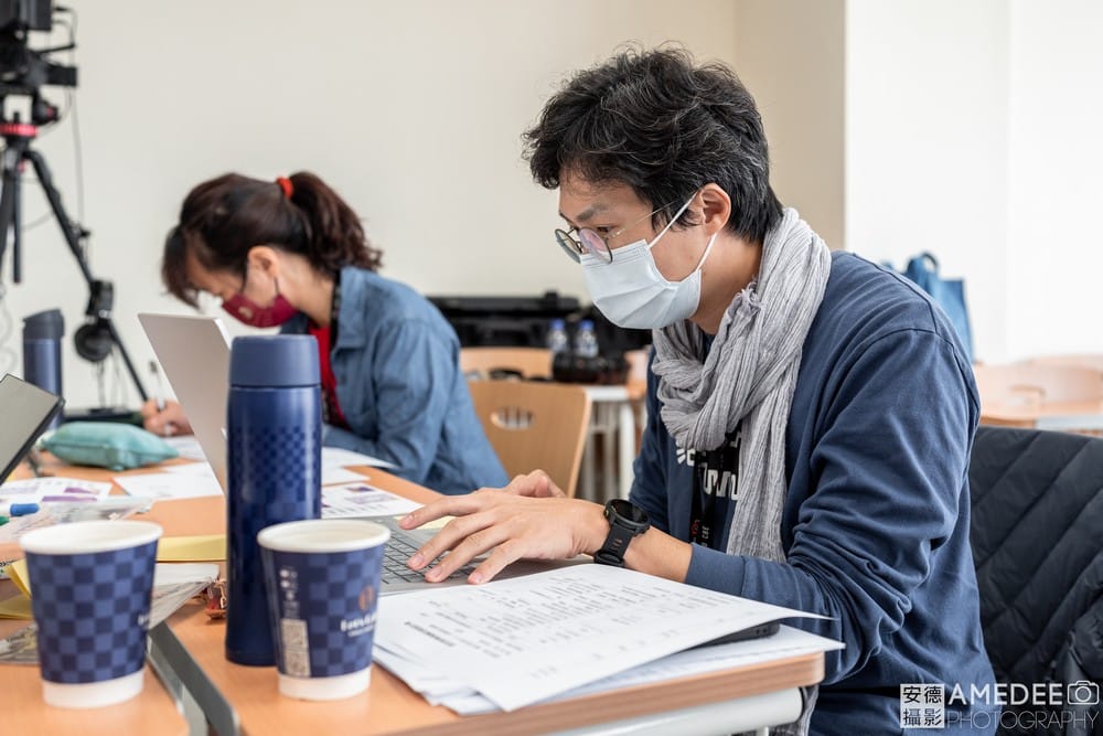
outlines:
[[141, 692], [160, 536], [151, 522], [86, 521], [20, 540], [46, 703], [99, 707]]

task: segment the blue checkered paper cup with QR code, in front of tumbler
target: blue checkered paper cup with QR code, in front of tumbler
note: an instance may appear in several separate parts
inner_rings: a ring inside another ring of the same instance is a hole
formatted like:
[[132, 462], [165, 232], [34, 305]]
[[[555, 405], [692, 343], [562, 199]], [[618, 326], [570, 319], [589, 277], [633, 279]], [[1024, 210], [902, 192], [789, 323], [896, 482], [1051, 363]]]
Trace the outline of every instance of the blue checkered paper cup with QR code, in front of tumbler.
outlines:
[[361, 519], [295, 521], [257, 535], [280, 693], [328, 701], [367, 690], [389, 538], [387, 527]]

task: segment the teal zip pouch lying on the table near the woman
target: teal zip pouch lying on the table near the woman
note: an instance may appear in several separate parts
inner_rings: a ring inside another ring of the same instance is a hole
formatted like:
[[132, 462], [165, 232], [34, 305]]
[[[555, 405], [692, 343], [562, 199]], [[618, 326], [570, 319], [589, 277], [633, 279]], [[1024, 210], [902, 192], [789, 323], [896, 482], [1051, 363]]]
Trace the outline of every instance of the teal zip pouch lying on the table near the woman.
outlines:
[[153, 433], [115, 422], [63, 424], [42, 446], [65, 462], [111, 470], [140, 468], [179, 455]]

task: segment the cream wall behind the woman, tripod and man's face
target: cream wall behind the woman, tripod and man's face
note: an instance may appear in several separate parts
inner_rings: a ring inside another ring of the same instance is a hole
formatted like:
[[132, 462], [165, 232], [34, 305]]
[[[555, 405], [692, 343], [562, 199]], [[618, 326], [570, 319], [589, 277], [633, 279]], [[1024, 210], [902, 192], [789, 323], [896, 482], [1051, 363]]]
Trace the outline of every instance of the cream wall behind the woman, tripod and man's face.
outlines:
[[[521, 132], [572, 70], [625, 41], [683, 42], [731, 62], [725, 0], [71, 0], [79, 12], [85, 224], [92, 266], [115, 281], [116, 322], [142, 366], [135, 314], [183, 311], [163, 296], [162, 239], [186, 191], [227, 170], [312, 169], [366, 218], [384, 273], [426, 294], [585, 297], [552, 239], [556, 194], [532, 183]], [[47, 96], [62, 100], [58, 90]], [[41, 141], [76, 215], [73, 118]], [[25, 221], [45, 210], [33, 181]], [[86, 290], [46, 222], [24, 233], [24, 284], [0, 369], [22, 373], [24, 316], [60, 307], [69, 334]], [[10, 259], [3, 264], [10, 284]], [[66, 340], [65, 393], [97, 403], [95, 370]], [[127, 380], [109, 381], [135, 403]], [[150, 387], [150, 386], [148, 386]]]

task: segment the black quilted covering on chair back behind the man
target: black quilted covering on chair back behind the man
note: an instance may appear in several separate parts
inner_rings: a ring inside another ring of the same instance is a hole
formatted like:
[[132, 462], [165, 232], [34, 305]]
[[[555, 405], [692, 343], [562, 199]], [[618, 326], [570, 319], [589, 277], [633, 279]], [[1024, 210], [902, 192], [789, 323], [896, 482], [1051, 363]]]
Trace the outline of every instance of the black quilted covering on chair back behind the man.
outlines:
[[[1064, 691], [1062, 704], [1005, 705], [1024, 717], [1006, 716], [999, 733], [1103, 733], [1103, 439], [982, 426], [968, 474], [981, 623], [996, 679]], [[1068, 723], [1026, 727], [1038, 711]]]

